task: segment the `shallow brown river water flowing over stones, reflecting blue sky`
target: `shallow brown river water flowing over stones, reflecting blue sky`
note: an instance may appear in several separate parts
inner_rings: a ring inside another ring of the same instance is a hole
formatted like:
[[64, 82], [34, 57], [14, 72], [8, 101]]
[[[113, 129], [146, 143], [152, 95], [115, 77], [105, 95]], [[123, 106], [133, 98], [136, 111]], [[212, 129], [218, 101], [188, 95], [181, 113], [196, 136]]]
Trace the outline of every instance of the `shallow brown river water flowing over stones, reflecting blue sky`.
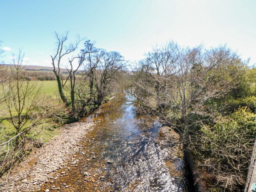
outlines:
[[41, 191], [193, 191], [183, 161], [158, 144], [161, 124], [143, 120], [134, 106], [112, 99], [83, 121], [93, 121], [94, 130], [79, 143], [74, 162], [56, 173], [60, 179]]

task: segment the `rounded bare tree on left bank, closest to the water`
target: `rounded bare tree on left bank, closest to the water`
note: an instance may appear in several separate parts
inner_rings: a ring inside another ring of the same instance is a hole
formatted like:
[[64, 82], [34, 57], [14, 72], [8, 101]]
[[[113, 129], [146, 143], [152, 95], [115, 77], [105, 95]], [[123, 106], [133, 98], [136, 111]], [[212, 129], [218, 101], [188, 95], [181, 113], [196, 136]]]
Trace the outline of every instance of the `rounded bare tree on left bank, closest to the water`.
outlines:
[[101, 105], [108, 86], [116, 80], [117, 72], [125, 67], [123, 56], [118, 52], [107, 52], [96, 48], [95, 42], [84, 43], [86, 52], [85, 69], [89, 76], [90, 99]]

